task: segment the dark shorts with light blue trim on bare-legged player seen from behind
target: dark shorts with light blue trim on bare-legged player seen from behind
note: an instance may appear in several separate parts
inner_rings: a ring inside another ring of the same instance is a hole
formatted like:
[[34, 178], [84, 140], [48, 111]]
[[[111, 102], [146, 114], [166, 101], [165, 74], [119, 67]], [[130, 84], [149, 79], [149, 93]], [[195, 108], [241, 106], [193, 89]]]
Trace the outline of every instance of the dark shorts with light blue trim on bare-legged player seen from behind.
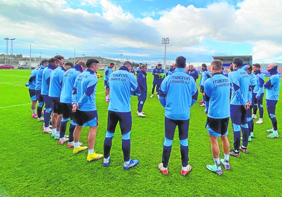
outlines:
[[214, 137], [225, 136], [228, 134], [228, 118], [207, 118], [206, 129]]

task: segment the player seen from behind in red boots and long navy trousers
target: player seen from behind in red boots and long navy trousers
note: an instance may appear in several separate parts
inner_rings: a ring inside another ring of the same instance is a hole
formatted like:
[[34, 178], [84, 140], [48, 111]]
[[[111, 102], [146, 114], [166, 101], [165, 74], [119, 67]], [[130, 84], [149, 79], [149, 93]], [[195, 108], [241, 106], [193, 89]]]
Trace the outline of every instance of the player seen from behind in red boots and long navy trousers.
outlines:
[[159, 101], [164, 107], [165, 138], [162, 162], [158, 167], [165, 175], [168, 174], [167, 166], [176, 126], [178, 126], [180, 141], [181, 174], [186, 175], [192, 169], [192, 166], [188, 164], [188, 129], [190, 108], [197, 101], [198, 90], [193, 77], [185, 73], [185, 66], [186, 59], [182, 56], [177, 57], [175, 72], [163, 80], [159, 89]]

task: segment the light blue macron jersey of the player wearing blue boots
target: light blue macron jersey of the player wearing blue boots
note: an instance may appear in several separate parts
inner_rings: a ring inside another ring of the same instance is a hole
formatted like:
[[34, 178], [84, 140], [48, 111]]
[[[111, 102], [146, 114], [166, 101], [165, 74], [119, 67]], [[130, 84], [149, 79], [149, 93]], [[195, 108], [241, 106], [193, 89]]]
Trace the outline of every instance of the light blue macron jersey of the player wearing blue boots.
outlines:
[[130, 112], [131, 94], [140, 96], [140, 89], [133, 73], [122, 66], [113, 72], [109, 78], [110, 103], [108, 110], [115, 112]]

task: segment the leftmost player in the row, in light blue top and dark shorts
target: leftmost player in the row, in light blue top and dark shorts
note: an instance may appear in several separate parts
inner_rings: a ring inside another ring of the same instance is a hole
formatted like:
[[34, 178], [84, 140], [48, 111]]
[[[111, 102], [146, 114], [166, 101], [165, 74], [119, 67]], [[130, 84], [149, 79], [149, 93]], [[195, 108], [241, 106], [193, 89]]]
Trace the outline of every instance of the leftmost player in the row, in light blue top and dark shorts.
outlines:
[[[39, 67], [31, 71], [28, 83], [26, 83], [26, 86], [28, 87], [28, 90], [29, 90], [30, 99], [31, 99], [31, 112], [32, 112], [33, 118], [38, 118], [38, 115], [36, 114], [36, 111], [35, 111], [35, 107], [37, 103], [35, 86], [36, 86], [36, 73], [38, 69]], [[41, 111], [39, 113], [41, 114]]]

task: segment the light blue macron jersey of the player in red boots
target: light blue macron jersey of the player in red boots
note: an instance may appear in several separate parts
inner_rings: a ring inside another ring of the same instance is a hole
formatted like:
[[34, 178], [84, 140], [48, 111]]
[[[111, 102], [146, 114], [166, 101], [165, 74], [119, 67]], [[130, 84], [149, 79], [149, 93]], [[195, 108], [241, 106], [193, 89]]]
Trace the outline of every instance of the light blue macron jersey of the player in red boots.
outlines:
[[196, 82], [184, 68], [176, 68], [174, 73], [164, 78], [159, 89], [159, 100], [164, 106], [165, 117], [169, 119], [189, 119], [190, 108], [197, 97]]

